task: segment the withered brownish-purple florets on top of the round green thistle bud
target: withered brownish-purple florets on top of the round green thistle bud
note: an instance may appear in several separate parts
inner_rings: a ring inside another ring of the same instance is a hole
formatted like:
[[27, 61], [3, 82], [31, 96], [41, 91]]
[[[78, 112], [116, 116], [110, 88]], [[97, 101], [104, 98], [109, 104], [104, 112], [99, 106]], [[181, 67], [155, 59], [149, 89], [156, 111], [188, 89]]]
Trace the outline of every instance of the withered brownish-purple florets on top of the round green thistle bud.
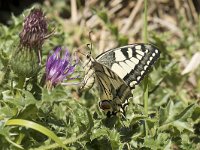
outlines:
[[23, 30], [19, 34], [22, 46], [41, 47], [48, 36], [47, 20], [41, 9], [32, 9], [25, 18]]

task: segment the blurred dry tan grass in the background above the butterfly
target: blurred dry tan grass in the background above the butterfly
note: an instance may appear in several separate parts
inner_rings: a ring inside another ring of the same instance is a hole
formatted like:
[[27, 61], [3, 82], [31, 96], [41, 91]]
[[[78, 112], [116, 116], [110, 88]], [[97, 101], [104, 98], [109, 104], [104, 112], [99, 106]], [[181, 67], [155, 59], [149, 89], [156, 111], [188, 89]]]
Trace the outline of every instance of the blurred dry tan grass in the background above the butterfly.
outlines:
[[[63, 25], [64, 32], [70, 33], [70, 43], [73, 45], [73, 49], [90, 43], [88, 36], [90, 31], [92, 31], [94, 55], [117, 47], [120, 36], [127, 38], [127, 43], [143, 42], [143, 0], [112, 0], [107, 2], [89, 0], [81, 2], [71, 0], [70, 3], [63, 5], [63, 8], [66, 8], [66, 5], [70, 6], [68, 11], [64, 11], [69, 17], [58, 20]], [[45, 1], [45, 5], [52, 7], [50, 1]], [[56, 5], [60, 7], [59, 4]], [[53, 14], [60, 18], [61, 10], [55, 9]], [[107, 20], [98, 16], [98, 13], [102, 12], [107, 15]], [[149, 42], [155, 42], [152, 40], [152, 36], [157, 36], [157, 38], [162, 36], [166, 37], [165, 40], [167, 40], [164, 41], [165, 49], [176, 45], [175, 51], [167, 53], [178, 62], [180, 72], [187, 67], [192, 56], [200, 50], [199, 43], [195, 43], [195, 40], [197, 41], [195, 38], [198, 36], [194, 36], [199, 34], [198, 28], [195, 27], [199, 23], [198, 19], [194, 4], [190, 0], [152, 0], [148, 3]], [[109, 25], [117, 28], [118, 37], [113, 34]], [[191, 42], [191, 40], [193, 41]], [[191, 50], [188, 49], [187, 45], [190, 45]], [[192, 86], [197, 85], [196, 78], [196, 76], [193, 77], [192, 82], [196, 84], [191, 83]], [[191, 80], [189, 79], [190, 77], [188, 78], [190, 84]]]

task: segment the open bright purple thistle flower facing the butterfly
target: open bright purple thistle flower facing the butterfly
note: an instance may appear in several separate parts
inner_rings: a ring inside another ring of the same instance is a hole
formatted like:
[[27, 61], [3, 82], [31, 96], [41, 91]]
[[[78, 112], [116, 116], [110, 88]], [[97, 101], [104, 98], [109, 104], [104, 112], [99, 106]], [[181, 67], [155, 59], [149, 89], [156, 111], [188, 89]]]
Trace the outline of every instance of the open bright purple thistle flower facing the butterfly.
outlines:
[[[78, 59], [72, 64], [72, 57], [66, 49], [61, 56], [61, 47], [56, 47], [54, 53], [49, 55], [46, 62], [46, 83], [47, 88], [56, 86], [61, 83], [67, 76], [74, 73]], [[70, 78], [69, 78], [70, 79]], [[73, 78], [74, 79], [74, 78]]]

